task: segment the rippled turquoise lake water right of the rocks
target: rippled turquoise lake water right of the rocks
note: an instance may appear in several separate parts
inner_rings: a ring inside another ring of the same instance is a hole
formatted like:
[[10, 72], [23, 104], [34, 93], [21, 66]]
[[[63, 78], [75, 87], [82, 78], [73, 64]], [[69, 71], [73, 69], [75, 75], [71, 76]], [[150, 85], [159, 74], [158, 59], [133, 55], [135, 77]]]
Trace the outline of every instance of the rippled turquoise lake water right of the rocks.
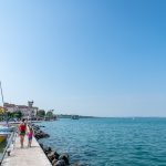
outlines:
[[166, 166], [166, 118], [43, 122], [40, 142], [82, 166]]

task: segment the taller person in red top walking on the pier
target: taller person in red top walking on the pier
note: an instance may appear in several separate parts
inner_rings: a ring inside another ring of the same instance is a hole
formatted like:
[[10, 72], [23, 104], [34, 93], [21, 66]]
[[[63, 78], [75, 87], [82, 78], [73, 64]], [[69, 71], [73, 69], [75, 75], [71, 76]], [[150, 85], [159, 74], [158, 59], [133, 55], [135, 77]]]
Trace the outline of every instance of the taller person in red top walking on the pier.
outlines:
[[23, 148], [23, 142], [24, 142], [24, 135], [27, 132], [27, 122], [23, 118], [21, 121], [21, 123], [19, 124], [19, 135], [20, 135], [20, 144], [21, 144], [21, 148]]

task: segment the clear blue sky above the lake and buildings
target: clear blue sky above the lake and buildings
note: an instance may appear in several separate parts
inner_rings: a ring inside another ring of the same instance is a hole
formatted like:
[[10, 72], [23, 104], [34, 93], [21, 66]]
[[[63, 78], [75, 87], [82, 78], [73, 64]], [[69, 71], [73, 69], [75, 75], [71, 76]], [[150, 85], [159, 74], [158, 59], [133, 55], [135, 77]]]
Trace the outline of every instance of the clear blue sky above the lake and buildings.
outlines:
[[165, 0], [0, 0], [4, 102], [165, 117]]

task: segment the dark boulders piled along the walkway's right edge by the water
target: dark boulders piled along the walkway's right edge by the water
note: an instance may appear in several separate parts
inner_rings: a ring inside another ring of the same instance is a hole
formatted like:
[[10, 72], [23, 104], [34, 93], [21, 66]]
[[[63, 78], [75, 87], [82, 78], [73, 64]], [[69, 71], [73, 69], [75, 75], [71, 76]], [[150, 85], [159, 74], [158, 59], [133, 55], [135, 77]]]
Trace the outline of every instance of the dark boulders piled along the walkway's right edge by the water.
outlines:
[[[37, 139], [50, 137], [49, 134], [46, 134], [45, 132], [41, 129], [41, 127], [43, 126], [33, 124], [32, 127], [34, 131], [34, 137]], [[48, 147], [46, 145], [43, 145], [43, 144], [40, 144], [40, 146], [43, 149], [46, 157], [49, 158], [52, 166], [69, 166], [70, 165], [69, 154], [66, 153], [59, 154], [58, 152], [53, 151], [51, 147]], [[72, 164], [70, 166], [76, 166], [76, 165], [77, 164]]]

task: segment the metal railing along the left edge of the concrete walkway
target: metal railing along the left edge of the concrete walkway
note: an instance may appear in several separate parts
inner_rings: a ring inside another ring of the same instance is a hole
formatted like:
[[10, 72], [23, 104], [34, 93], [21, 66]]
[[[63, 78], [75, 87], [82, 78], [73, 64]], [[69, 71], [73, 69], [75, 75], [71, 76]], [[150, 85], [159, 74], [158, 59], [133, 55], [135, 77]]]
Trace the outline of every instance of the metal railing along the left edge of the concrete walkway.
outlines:
[[[13, 131], [9, 137], [8, 144], [3, 151], [2, 157], [0, 159], [0, 166], [2, 165], [6, 154], [9, 153], [8, 155], [10, 155], [10, 152], [12, 151], [11, 148], [14, 148], [15, 136], [17, 136], [17, 132]], [[11, 147], [11, 148], [9, 149], [9, 147]]]

